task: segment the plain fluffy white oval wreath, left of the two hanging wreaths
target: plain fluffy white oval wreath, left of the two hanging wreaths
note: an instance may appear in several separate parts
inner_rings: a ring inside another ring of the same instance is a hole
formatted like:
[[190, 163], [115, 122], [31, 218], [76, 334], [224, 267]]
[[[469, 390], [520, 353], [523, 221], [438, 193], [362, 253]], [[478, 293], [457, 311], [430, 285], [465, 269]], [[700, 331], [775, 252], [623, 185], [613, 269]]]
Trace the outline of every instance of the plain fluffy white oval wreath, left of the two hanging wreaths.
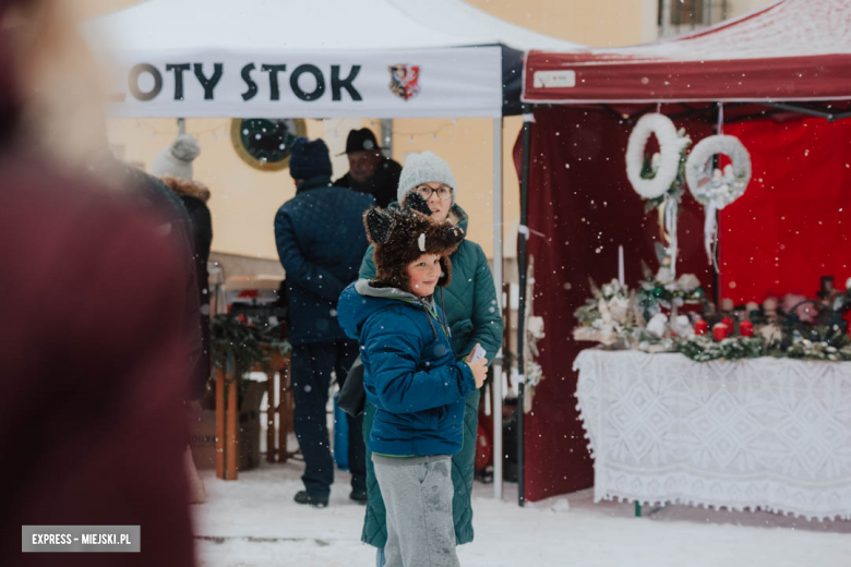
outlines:
[[[652, 134], [656, 134], [659, 141], [659, 168], [651, 179], [643, 179], [644, 149]], [[659, 113], [643, 116], [630, 134], [630, 144], [626, 146], [626, 177], [635, 192], [644, 198], [664, 195], [676, 179], [680, 154], [688, 143], [687, 137], [681, 137], [676, 133], [676, 126], [667, 116]]]

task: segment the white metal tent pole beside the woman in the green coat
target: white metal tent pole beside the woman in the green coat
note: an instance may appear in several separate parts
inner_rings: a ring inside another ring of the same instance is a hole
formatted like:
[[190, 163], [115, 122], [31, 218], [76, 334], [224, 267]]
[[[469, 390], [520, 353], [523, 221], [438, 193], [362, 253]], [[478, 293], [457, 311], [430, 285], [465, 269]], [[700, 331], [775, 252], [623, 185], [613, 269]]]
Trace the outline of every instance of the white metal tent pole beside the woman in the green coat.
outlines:
[[[502, 117], [493, 119], [493, 284], [496, 288], [496, 312], [502, 315]], [[502, 499], [502, 353], [503, 346], [493, 363], [493, 497]]]

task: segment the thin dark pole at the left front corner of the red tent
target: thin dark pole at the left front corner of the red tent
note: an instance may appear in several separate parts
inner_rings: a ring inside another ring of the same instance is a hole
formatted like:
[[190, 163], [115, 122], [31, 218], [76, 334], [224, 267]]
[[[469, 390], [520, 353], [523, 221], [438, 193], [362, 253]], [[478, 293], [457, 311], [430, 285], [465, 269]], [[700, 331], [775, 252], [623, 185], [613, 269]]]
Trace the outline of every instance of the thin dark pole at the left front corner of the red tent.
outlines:
[[529, 105], [523, 106], [523, 155], [520, 166], [520, 233], [517, 240], [517, 267], [519, 269], [519, 284], [520, 284], [520, 301], [517, 309], [517, 373], [519, 379], [517, 382], [517, 504], [520, 506], [526, 505], [526, 486], [525, 486], [525, 451], [524, 451], [524, 396], [526, 388], [526, 376], [524, 373], [526, 361], [524, 360], [524, 318], [526, 315], [526, 241], [528, 240], [528, 232], [526, 224], [529, 220], [528, 202], [529, 202], [529, 159], [531, 152], [531, 123], [532, 123], [531, 107]]

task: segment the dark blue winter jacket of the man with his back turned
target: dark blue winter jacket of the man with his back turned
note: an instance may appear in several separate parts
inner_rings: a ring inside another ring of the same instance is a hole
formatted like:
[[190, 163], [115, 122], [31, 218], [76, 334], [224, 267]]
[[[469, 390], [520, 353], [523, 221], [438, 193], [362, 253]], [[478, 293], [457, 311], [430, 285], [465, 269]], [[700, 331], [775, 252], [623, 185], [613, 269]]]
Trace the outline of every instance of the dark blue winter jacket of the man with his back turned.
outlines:
[[346, 338], [337, 324], [337, 298], [358, 277], [369, 242], [363, 213], [375, 200], [334, 186], [331, 178], [302, 181], [275, 216], [275, 241], [287, 272], [292, 345]]

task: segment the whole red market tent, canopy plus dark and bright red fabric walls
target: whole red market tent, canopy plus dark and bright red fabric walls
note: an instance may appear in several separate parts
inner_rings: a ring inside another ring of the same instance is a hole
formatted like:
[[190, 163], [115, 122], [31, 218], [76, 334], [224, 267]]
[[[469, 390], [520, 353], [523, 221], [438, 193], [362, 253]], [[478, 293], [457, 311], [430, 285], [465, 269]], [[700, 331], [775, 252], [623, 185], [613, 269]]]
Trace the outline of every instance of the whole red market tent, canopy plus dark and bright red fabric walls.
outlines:
[[[624, 168], [634, 120], [655, 102], [694, 141], [721, 119], [753, 165], [747, 193], [719, 218], [717, 279], [703, 250], [705, 212], [684, 195], [681, 273], [736, 304], [814, 295], [820, 276], [841, 286], [851, 275], [851, 121], [836, 123], [851, 117], [851, 0], [780, 0], [636, 47], [532, 51], [525, 73], [523, 98], [537, 108], [528, 149], [520, 152], [520, 140], [516, 147], [518, 173], [528, 174], [522, 222], [530, 230], [518, 260], [535, 258], [535, 314], [547, 329], [536, 360], [547, 379], [524, 418], [522, 494], [537, 500], [594, 482], [570, 365], [588, 345], [572, 340], [572, 313], [590, 295], [588, 276], [603, 282], [616, 274], [619, 245], [627, 285], [655, 256], [658, 216], [643, 213]], [[786, 104], [792, 100], [823, 102]]]

